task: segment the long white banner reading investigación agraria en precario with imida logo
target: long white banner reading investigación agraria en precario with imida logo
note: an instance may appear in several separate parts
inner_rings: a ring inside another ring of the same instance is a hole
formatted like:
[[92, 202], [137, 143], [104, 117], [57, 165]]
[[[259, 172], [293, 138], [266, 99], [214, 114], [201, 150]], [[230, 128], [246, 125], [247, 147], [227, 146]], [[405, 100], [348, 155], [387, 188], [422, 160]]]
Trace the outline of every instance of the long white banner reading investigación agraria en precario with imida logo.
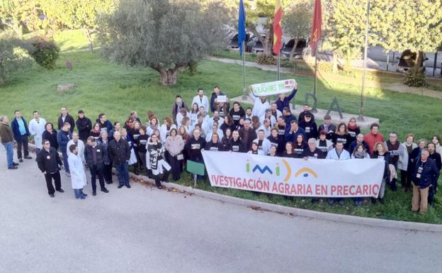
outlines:
[[385, 162], [303, 160], [240, 152], [203, 151], [210, 184], [268, 194], [378, 197]]

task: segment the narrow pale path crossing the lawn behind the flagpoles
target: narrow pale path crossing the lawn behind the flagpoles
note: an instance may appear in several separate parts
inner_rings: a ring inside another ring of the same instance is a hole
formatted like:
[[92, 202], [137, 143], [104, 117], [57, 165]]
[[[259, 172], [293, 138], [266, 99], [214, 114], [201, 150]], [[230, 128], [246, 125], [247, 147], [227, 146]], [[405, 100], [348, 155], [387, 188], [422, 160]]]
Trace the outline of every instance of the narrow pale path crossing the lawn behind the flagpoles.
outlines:
[[[229, 63], [229, 64], [242, 65], [242, 60], [233, 60], [233, 59], [222, 58], [222, 57], [208, 57], [208, 60], [217, 61], [217, 62], [225, 62], [225, 63]], [[256, 67], [259, 69], [263, 69], [265, 71], [272, 71], [272, 72], [277, 71], [277, 68], [275, 65], [258, 65], [256, 62], [246, 62], [246, 67]], [[288, 74], [297, 74], [296, 71], [294, 71], [291, 68], [287, 68], [287, 67], [280, 67], [280, 72], [281, 73], [288, 73]], [[322, 79], [321, 74], [324, 74], [324, 73], [319, 73], [318, 79]], [[305, 73], [302, 73], [301, 75], [305, 76]], [[341, 75], [336, 75], [336, 74], [330, 74], [330, 76], [333, 77], [333, 80], [335, 82], [340, 82], [340, 83], [344, 83], [344, 84], [355, 84], [354, 83], [355, 79], [352, 79], [352, 78], [343, 77]], [[328, 74], [326, 75], [326, 77], [328, 79]], [[397, 91], [400, 93], [409, 93], [409, 94], [416, 94], [419, 96], [429, 96], [429, 97], [435, 98], [435, 99], [442, 99], [442, 92], [441, 91], [431, 90], [428, 88], [408, 87], [408, 86], [401, 84], [401, 83], [386, 83], [386, 82], [376, 82], [376, 81], [369, 81], [369, 80], [366, 81], [366, 84], [367, 84], [367, 87], [381, 88], [384, 90]], [[442, 84], [442, 82], [441, 82], [441, 84]]]

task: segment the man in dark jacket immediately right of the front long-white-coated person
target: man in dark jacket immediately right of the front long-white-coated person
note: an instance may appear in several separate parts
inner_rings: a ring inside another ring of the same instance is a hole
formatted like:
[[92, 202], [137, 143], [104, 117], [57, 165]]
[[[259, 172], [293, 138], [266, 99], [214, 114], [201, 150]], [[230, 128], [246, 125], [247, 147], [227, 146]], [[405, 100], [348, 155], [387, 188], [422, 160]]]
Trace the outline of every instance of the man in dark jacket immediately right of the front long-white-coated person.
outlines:
[[100, 182], [101, 191], [108, 193], [108, 189], [104, 186], [104, 160], [106, 159], [106, 150], [101, 143], [96, 142], [95, 138], [90, 136], [87, 145], [84, 147], [84, 159], [91, 170], [92, 195], [96, 196], [96, 176]]

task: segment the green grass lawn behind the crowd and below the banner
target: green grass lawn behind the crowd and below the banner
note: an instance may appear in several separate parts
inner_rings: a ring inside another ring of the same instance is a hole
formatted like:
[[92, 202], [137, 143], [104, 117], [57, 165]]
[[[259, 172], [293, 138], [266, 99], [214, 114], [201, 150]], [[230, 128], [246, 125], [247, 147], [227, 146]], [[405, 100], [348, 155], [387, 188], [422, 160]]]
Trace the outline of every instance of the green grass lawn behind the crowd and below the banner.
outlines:
[[[69, 43], [67, 43], [69, 44]], [[66, 45], [67, 45], [66, 44]], [[80, 46], [81, 48], [81, 46]], [[73, 63], [68, 69], [66, 61]], [[147, 118], [147, 111], [154, 111], [160, 120], [170, 115], [171, 104], [176, 94], [181, 94], [184, 101], [190, 104], [198, 87], [203, 87], [206, 94], [212, 87], [220, 85], [229, 97], [239, 96], [242, 89], [242, 67], [222, 62], [200, 62], [198, 72], [191, 76], [183, 72], [179, 75], [178, 84], [174, 87], [162, 87], [158, 83], [158, 74], [152, 69], [128, 68], [106, 62], [96, 52], [69, 52], [62, 53], [57, 62], [57, 69], [47, 71], [34, 66], [22, 72], [13, 74], [8, 79], [6, 87], [0, 88], [0, 114], [12, 116], [13, 110], [18, 108], [28, 120], [34, 110], [40, 111], [47, 121], [57, 121], [61, 106], [67, 106], [72, 116], [77, 116], [81, 108], [86, 116], [95, 119], [98, 113], [106, 113], [111, 121], [125, 121], [130, 110], [139, 113], [143, 123]], [[276, 73], [264, 72], [261, 69], [247, 68], [247, 84], [276, 80]], [[312, 78], [298, 77], [283, 74], [282, 78], [295, 77], [299, 84], [299, 92], [295, 97], [298, 104], [302, 104], [305, 93], [312, 90]], [[57, 84], [72, 82], [76, 89], [57, 95]], [[328, 108], [331, 99], [336, 96], [342, 111], [358, 113], [360, 87], [329, 81], [328, 84], [319, 82], [319, 108]], [[365, 99], [365, 115], [380, 118], [380, 130], [387, 135], [391, 130], [399, 133], [402, 140], [406, 133], [414, 133], [416, 138], [429, 138], [433, 134], [442, 132], [441, 101], [413, 94], [399, 94], [382, 89], [368, 89]], [[192, 184], [191, 178], [183, 177], [181, 184]], [[385, 205], [367, 204], [355, 207], [350, 200], [346, 206], [329, 206], [327, 202], [310, 204], [310, 199], [285, 199], [283, 196], [256, 196], [248, 191], [220, 189], [211, 187], [208, 182], [198, 184], [198, 188], [215, 191], [222, 194], [256, 199], [259, 201], [308, 208], [317, 211], [344, 213], [355, 216], [387, 218], [404, 221], [425, 223], [442, 223], [442, 194], [437, 194], [436, 205], [429, 208], [426, 215], [421, 216], [410, 211], [411, 194], [402, 191], [392, 193], [387, 190]], [[399, 187], [400, 189], [400, 187]]]

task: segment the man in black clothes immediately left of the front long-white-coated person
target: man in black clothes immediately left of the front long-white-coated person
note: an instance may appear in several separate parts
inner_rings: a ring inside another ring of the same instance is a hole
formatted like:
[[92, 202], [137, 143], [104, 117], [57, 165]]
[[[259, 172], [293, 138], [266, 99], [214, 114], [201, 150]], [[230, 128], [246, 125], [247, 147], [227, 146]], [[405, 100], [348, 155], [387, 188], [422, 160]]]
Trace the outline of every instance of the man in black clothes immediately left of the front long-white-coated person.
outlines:
[[[47, 139], [43, 139], [43, 148], [37, 155], [38, 169], [45, 174], [47, 194], [54, 197], [55, 191], [64, 192], [62, 189], [62, 180], [60, 178], [60, 169], [63, 162], [58, 155], [57, 150], [50, 146]], [[52, 186], [52, 179], [55, 182], [55, 189]]]

